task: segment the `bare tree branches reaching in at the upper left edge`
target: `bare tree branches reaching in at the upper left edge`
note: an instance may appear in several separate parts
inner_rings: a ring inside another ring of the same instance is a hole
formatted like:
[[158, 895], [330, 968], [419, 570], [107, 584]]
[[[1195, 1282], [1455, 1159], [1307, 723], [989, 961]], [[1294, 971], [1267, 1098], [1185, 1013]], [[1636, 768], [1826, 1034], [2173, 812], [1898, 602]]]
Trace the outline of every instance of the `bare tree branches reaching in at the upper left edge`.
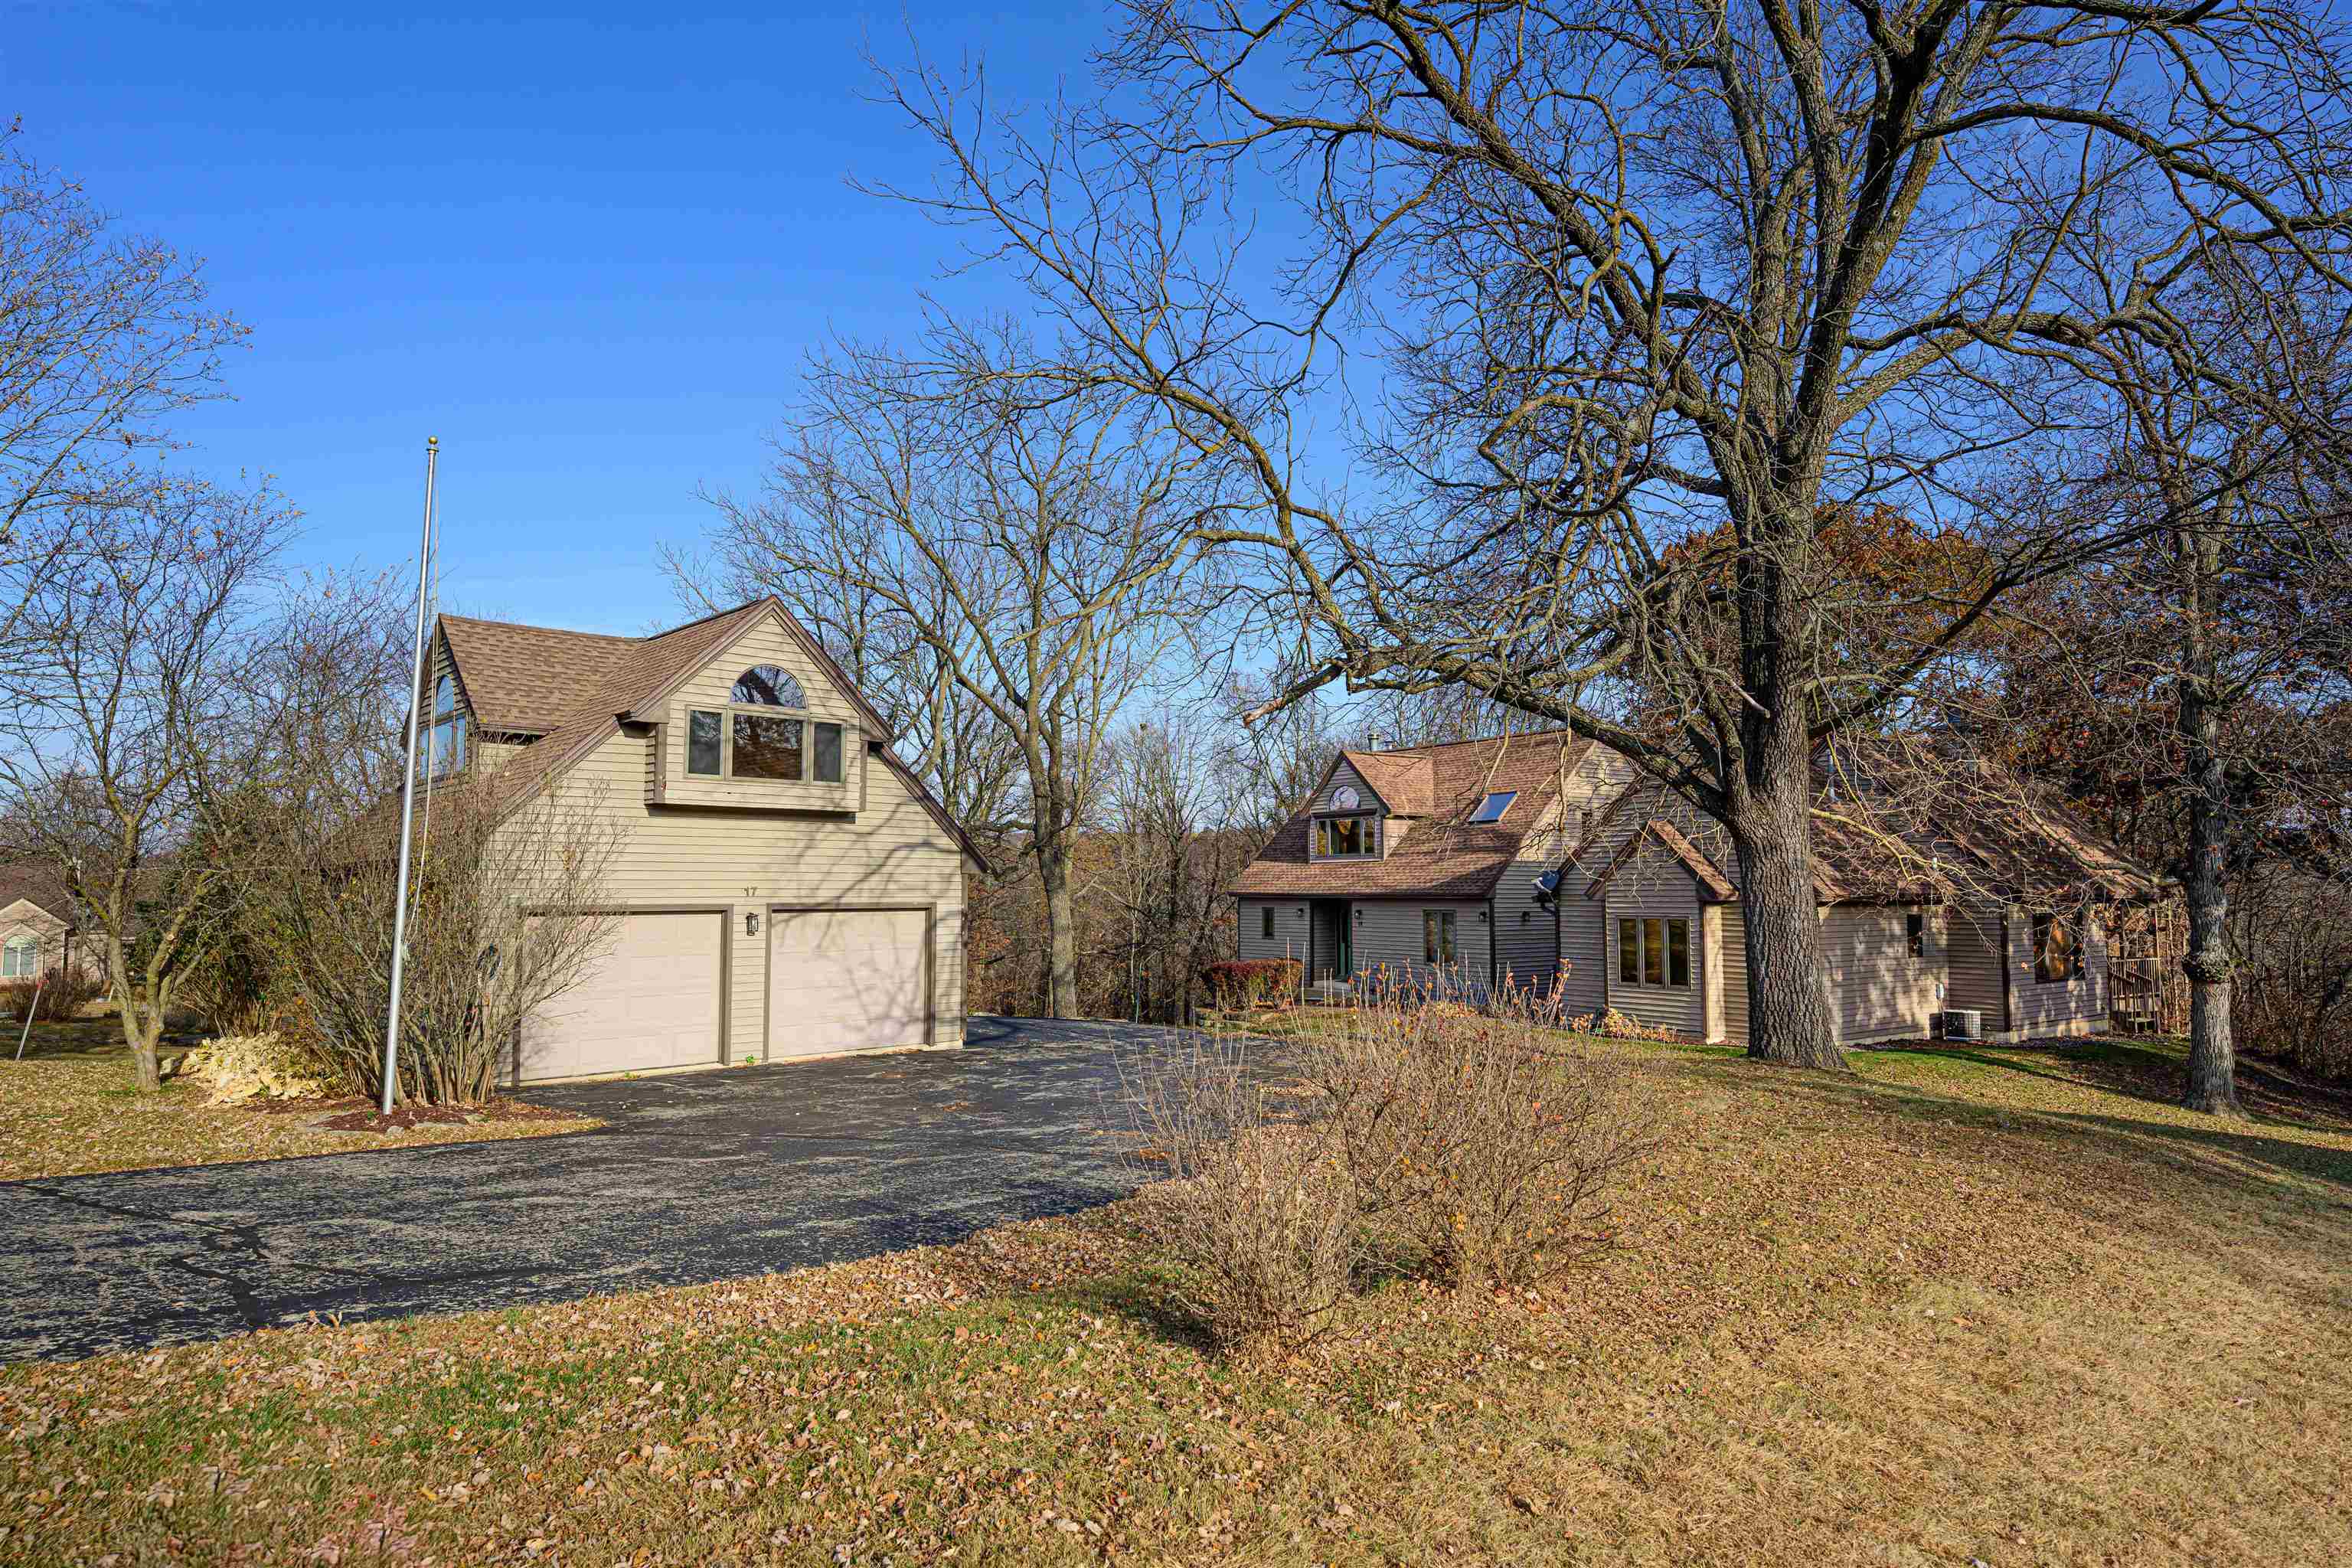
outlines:
[[193, 261], [122, 235], [82, 188], [0, 132], [0, 646], [26, 599], [78, 548], [78, 522], [127, 482], [162, 418], [219, 397], [245, 336], [205, 306]]

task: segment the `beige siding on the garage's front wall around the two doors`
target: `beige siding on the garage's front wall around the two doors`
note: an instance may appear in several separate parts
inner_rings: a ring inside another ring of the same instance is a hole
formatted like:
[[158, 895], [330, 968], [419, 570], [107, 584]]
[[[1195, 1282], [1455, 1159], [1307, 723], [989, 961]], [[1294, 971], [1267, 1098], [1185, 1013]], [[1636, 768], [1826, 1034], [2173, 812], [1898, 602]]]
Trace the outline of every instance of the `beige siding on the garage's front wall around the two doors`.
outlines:
[[[724, 698], [753, 663], [776, 663], [802, 682], [811, 710], [844, 710], [776, 621], [760, 621], [694, 682], [684, 701]], [[823, 708], [818, 708], [823, 703]], [[746, 936], [746, 914], [771, 905], [922, 907], [934, 912], [931, 1039], [964, 1037], [964, 860], [917, 795], [868, 757], [856, 818], [649, 806], [652, 733], [607, 738], [562, 780], [574, 809], [609, 813], [621, 853], [609, 875], [616, 907], [724, 907], [729, 931], [727, 1056], [764, 1058], [767, 933]]]

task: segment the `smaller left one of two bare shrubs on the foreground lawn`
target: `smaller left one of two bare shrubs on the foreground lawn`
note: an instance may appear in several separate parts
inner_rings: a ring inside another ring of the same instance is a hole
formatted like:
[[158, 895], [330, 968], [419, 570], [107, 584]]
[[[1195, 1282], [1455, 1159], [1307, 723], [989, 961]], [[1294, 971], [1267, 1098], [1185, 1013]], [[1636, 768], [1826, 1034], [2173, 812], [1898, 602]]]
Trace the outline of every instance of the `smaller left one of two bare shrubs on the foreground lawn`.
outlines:
[[1160, 1187], [1178, 1302], [1235, 1354], [1322, 1335], [1359, 1260], [1357, 1187], [1322, 1119], [1254, 1070], [1240, 1039], [1190, 1037], [1129, 1065], [1127, 1098]]

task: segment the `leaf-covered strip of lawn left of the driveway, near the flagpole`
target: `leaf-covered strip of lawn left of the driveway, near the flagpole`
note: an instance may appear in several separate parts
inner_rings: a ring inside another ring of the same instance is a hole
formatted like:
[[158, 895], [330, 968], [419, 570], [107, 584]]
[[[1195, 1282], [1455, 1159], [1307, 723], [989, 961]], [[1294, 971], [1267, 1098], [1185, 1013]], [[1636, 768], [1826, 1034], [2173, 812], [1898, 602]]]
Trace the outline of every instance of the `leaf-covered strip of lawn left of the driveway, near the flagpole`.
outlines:
[[[209, 1105], [195, 1084], [151, 1095], [132, 1088], [132, 1058], [113, 1018], [35, 1023], [24, 1060], [16, 1025], [0, 1044], [0, 1180], [212, 1166], [240, 1159], [397, 1150], [419, 1143], [541, 1138], [600, 1126], [572, 1117], [501, 1117], [426, 1124], [388, 1133], [339, 1133], [313, 1126], [325, 1110]], [[5, 1547], [5, 1542], [0, 1542]]]

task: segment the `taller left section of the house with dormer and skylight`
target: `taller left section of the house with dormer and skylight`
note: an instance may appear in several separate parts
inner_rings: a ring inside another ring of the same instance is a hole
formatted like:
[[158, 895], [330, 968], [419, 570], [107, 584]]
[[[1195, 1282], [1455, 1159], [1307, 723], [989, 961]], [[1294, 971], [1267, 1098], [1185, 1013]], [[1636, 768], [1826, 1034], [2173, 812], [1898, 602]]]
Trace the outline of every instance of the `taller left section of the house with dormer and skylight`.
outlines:
[[1341, 752], [1232, 884], [1240, 957], [1291, 957], [1324, 992], [1362, 976], [1548, 992], [1545, 877], [1632, 778], [1569, 731]]

